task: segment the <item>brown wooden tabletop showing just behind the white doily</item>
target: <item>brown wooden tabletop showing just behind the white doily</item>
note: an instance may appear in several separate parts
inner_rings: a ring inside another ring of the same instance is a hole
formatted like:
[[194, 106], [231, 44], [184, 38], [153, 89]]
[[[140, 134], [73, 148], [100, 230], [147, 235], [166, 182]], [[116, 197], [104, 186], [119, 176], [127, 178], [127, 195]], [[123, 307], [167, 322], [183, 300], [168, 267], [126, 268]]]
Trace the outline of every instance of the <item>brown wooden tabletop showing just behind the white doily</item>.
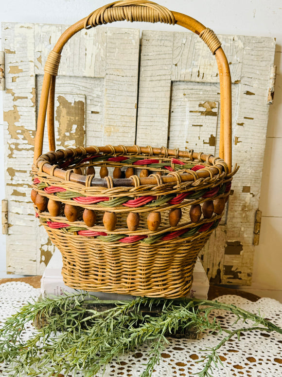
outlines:
[[[23, 281], [32, 285], [35, 288], [40, 288], [41, 276], [29, 276], [25, 278], [5, 278], [0, 279], [0, 284], [6, 283], [8, 281]], [[250, 301], [257, 301], [260, 297], [249, 292], [241, 291], [239, 289], [234, 289], [231, 287], [221, 286], [221, 285], [211, 285], [208, 293], [208, 298], [212, 300], [213, 298], [223, 296], [223, 295], [236, 295], [243, 298], [247, 298]]]

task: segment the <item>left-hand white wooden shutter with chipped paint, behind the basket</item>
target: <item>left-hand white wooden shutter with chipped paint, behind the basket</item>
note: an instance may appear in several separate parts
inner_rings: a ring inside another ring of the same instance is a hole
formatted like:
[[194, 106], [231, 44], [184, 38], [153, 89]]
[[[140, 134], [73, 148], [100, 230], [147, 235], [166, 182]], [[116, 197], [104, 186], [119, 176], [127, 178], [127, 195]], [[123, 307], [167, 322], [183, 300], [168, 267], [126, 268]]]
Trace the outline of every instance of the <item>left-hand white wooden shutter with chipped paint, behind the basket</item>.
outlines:
[[[41, 274], [53, 253], [51, 241], [35, 219], [30, 170], [44, 64], [66, 27], [2, 24], [10, 273]], [[67, 43], [56, 81], [58, 147], [85, 141], [86, 145], [134, 143], [139, 40], [139, 30], [102, 27], [81, 31]], [[47, 152], [47, 142], [44, 147]]]

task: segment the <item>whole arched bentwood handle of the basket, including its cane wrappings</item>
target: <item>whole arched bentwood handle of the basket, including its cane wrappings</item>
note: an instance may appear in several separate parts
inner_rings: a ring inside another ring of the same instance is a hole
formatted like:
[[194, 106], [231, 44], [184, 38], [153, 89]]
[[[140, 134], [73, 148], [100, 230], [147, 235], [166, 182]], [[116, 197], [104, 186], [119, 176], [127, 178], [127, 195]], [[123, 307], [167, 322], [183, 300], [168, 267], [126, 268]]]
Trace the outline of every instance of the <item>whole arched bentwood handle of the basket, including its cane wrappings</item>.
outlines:
[[54, 92], [61, 52], [67, 41], [83, 28], [89, 29], [114, 21], [164, 22], [181, 25], [198, 34], [215, 55], [220, 80], [220, 145], [219, 157], [228, 164], [231, 171], [231, 78], [229, 64], [221, 48], [221, 43], [209, 28], [197, 20], [182, 13], [169, 11], [167, 8], [147, 0], [115, 1], [91, 13], [88, 17], [70, 26], [59, 38], [45, 64], [45, 74], [38, 111], [37, 131], [35, 136], [34, 163], [42, 154], [44, 124], [48, 107], [49, 147], [55, 150], [54, 138]]

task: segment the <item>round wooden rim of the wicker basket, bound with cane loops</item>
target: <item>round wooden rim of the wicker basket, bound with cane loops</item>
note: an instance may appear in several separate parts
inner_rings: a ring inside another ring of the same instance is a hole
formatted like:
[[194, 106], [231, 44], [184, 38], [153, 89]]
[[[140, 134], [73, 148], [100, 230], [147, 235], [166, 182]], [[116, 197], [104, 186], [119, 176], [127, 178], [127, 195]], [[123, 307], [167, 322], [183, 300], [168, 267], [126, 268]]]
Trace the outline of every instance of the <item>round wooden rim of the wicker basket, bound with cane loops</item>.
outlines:
[[[102, 186], [108, 187], [108, 180], [105, 178], [95, 178], [89, 176], [83, 176], [72, 172], [72, 169], [64, 170], [58, 167], [56, 162], [62, 159], [70, 159], [72, 157], [84, 157], [86, 155], [95, 154], [113, 154], [116, 156], [121, 156], [125, 154], [142, 154], [144, 157], [158, 156], [159, 158], [184, 158], [190, 159], [192, 161], [198, 161], [199, 163], [207, 163], [210, 166], [205, 166], [203, 169], [197, 171], [186, 170], [184, 173], [171, 172], [166, 176], [161, 176], [161, 183], [176, 183], [195, 181], [197, 179], [213, 178], [217, 175], [226, 174], [228, 177], [232, 177], [238, 170], [237, 164], [235, 165], [232, 172], [228, 173], [227, 163], [213, 155], [204, 154], [203, 152], [194, 152], [194, 150], [189, 151], [179, 151], [178, 149], [168, 149], [165, 147], [152, 148], [151, 146], [140, 147], [138, 145], [133, 146], [112, 146], [106, 145], [104, 147], [89, 146], [89, 147], [76, 147], [76, 148], [66, 148], [58, 149], [53, 152], [50, 151], [46, 154], [39, 156], [36, 160], [35, 168], [39, 169], [40, 172], [44, 172], [51, 176], [70, 180], [72, 182], [77, 182], [86, 185], [88, 181], [88, 186]], [[89, 181], [89, 178], [90, 181]], [[124, 179], [111, 179], [113, 187], [134, 187], [136, 185], [158, 185], [159, 179], [150, 176], [138, 179], [124, 178]]]

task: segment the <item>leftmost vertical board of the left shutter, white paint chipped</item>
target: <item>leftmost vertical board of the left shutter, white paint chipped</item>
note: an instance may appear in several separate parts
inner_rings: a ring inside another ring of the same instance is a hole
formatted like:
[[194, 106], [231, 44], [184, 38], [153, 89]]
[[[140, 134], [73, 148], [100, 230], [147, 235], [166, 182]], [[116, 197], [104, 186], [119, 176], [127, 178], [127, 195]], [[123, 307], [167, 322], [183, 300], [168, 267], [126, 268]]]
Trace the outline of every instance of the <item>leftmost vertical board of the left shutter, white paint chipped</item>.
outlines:
[[7, 51], [4, 107], [5, 197], [8, 199], [9, 235], [7, 272], [33, 275], [36, 269], [35, 220], [30, 199], [30, 168], [35, 136], [34, 30], [31, 24], [3, 25], [2, 43]]

